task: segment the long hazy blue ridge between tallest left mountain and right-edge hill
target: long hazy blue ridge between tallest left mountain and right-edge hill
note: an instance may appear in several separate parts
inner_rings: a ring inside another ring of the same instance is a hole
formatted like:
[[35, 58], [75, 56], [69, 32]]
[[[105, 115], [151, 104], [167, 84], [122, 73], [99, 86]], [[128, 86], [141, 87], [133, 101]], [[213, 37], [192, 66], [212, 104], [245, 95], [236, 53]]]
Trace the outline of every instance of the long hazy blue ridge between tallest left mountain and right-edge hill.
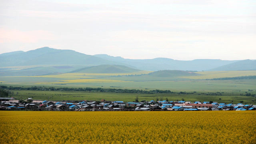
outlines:
[[98, 58], [105, 60], [111, 60], [128, 65], [132, 65], [140, 70], [208, 70], [226, 64], [238, 62], [239, 60], [210, 60], [210, 59], [198, 59], [198, 60], [173, 60], [170, 58], [154, 58], [146, 60], [132, 60], [124, 59], [121, 57], [108, 56], [106, 54], [94, 55]]

